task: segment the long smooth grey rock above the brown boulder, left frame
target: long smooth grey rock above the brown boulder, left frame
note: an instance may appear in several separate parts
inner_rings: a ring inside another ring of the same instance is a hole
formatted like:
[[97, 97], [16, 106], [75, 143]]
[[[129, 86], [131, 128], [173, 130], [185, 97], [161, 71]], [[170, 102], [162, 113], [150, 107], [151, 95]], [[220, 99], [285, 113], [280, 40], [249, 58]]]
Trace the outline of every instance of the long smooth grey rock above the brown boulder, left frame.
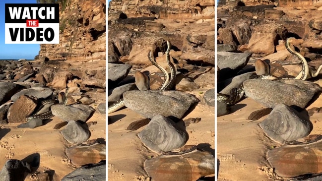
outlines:
[[43, 98], [46, 99], [53, 94], [53, 90], [51, 88], [45, 87], [32, 87], [29, 89], [24, 89], [11, 97], [12, 101], [16, 101], [21, 95], [34, 96], [38, 99]]

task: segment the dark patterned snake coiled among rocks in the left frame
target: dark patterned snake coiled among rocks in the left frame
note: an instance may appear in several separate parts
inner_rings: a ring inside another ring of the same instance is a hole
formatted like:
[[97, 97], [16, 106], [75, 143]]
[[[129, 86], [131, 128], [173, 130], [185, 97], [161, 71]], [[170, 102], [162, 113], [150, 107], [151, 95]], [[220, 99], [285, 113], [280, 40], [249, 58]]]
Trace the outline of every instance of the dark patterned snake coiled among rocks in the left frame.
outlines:
[[[47, 99], [41, 102], [40, 108], [36, 111], [35, 114], [26, 117], [26, 121], [30, 121], [32, 119], [41, 119], [41, 120], [48, 120], [54, 117], [50, 107], [54, 104], [67, 104], [67, 95], [68, 95], [68, 88], [65, 92], [59, 92], [55, 99]], [[49, 111], [47, 111], [49, 109]]]

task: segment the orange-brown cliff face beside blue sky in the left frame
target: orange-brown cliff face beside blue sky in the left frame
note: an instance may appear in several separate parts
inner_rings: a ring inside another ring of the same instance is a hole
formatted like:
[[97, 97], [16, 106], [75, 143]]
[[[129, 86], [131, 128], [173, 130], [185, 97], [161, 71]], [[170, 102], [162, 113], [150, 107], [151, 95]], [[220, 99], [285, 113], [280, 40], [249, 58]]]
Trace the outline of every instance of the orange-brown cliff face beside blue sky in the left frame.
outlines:
[[105, 60], [106, 1], [67, 0], [60, 4], [60, 44], [42, 44], [35, 60]]

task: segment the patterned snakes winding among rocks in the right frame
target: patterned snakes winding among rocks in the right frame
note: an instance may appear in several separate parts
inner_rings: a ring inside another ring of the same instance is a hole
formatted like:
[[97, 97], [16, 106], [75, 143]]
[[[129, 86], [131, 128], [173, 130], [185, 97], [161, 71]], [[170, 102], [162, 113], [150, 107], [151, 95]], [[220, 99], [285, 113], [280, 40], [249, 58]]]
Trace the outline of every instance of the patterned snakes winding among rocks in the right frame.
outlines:
[[[319, 66], [318, 71], [313, 72], [313, 70], [309, 68], [308, 62], [305, 60], [305, 58], [301, 54], [299, 54], [296, 51], [293, 51], [290, 48], [290, 43], [289, 43], [288, 38], [285, 41], [285, 47], [289, 53], [291, 53], [292, 55], [299, 58], [302, 62], [302, 70], [294, 79], [306, 80], [310, 77], [318, 76], [320, 70], [322, 69], [322, 65]], [[250, 79], [252, 79], [252, 78], [270, 79], [270, 80], [290, 79], [290, 78], [277, 78], [277, 77], [270, 75], [270, 74], [264, 74], [264, 75], [260, 75], [260, 76], [255, 75], [255, 76], [252, 76]], [[245, 90], [244, 90], [244, 84], [242, 83], [239, 87], [233, 88], [230, 91], [229, 95], [217, 93], [217, 101], [224, 102], [227, 105], [234, 105], [239, 100], [241, 100], [244, 96], [245, 96]]]

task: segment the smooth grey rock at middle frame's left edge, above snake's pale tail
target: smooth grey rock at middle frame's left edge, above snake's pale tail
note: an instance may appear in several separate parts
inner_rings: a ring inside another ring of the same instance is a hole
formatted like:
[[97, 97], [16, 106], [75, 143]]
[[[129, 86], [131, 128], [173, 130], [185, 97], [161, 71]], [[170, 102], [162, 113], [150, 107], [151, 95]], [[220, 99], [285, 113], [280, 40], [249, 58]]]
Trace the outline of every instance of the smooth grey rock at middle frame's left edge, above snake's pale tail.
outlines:
[[123, 93], [129, 90], [137, 90], [135, 83], [125, 84], [115, 89], [110, 89], [108, 91], [108, 102], [114, 103], [119, 101], [123, 97]]

